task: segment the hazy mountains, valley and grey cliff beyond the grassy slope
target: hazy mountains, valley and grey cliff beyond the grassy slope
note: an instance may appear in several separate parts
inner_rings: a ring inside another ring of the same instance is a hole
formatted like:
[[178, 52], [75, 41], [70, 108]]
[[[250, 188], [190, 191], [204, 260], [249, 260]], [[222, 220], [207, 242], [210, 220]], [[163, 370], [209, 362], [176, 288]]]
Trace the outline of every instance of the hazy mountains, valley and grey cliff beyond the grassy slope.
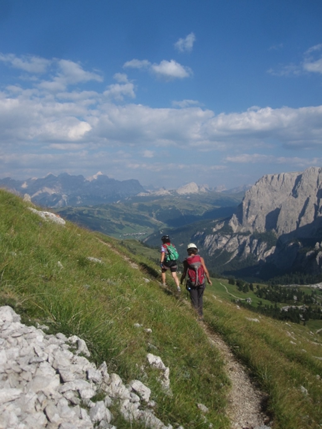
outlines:
[[[101, 173], [89, 179], [67, 173], [26, 181], [6, 178], [0, 186], [28, 193], [36, 204], [108, 235], [140, 234], [143, 242], [158, 246], [160, 234], [168, 232], [182, 250], [185, 243], [195, 242], [209, 268], [227, 276], [321, 276], [318, 167], [264, 175], [239, 193], [216, 192], [194, 182], [176, 190], [149, 191], [137, 180], [117, 181]], [[185, 252], [181, 254], [184, 258]]]

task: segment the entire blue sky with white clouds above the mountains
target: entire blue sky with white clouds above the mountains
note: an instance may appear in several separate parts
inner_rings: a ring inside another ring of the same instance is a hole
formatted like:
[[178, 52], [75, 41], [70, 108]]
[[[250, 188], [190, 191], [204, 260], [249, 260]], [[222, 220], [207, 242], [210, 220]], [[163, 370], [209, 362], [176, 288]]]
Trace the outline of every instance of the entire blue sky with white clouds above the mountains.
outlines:
[[322, 166], [320, 0], [1, 0], [0, 177]]

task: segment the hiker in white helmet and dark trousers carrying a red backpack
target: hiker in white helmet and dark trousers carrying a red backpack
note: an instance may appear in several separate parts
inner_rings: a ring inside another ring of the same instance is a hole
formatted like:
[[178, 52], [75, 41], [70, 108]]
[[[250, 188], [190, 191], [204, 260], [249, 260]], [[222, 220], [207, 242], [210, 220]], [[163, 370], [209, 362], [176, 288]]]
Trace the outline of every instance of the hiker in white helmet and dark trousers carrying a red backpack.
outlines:
[[209, 284], [212, 283], [204, 258], [198, 255], [197, 246], [194, 243], [189, 243], [187, 252], [188, 257], [183, 261], [183, 272], [180, 278], [180, 284], [182, 284], [185, 276], [188, 274], [185, 288], [190, 293], [192, 306], [197, 311], [200, 319], [202, 319], [204, 307], [203, 296], [206, 287], [205, 278], [207, 278]]

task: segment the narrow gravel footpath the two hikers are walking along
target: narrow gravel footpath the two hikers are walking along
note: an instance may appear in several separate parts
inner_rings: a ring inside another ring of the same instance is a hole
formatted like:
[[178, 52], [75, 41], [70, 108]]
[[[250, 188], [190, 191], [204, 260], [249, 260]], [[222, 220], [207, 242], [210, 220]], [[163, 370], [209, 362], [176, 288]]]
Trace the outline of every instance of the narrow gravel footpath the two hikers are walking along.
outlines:
[[[121, 255], [133, 268], [139, 268], [130, 258], [122, 255], [111, 245], [112, 251]], [[161, 283], [160, 283], [161, 285]], [[173, 292], [173, 289], [170, 289]], [[188, 304], [188, 302], [187, 302]], [[190, 304], [189, 304], [190, 305]], [[265, 429], [270, 427], [270, 418], [262, 411], [267, 397], [252, 382], [247, 368], [234, 357], [228, 345], [222, 338], [213, 332], [207, 323], [199, 322], [203, 326], [209, 340], [220, 350], [225, 362], [226, 373], [231, 380], [231, 391], [228, 395], [227, 415], [231, 420], [231, 429]]]

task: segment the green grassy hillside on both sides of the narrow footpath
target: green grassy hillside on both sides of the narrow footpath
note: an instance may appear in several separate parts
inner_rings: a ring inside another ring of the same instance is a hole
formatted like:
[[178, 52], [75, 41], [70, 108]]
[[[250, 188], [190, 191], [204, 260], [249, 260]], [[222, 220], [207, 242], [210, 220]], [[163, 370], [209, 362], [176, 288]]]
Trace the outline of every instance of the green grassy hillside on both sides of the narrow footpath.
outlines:
[[[2, 190], [0, 213], [0, 305], [12, 305], [24, 323], [38, 320], [52, 332], [84, 338], [97, 363], [105, 360], [109, 372], [117, 372], [125, 382], [138, 378], [152, 389], [155, 413], [165, 423], [229, 427], [225, 416], [229, 383], [219, 354], [186, 305], [186, 293], [178, 298], [171, 288], [160, 287], [151, 255], [133, 254], [112, 238], [70, 223], [62, 227], [43, 221], [21, 199]], [[221, 293], [217, 280], [206, 289], [206, 322], [269, 394], [274, 427], [320, 427], [321, 336], [307, 326], [237, 310]], [[249, 320], [254, 317], [260, 321]], [[170, 367], [173, 396], [162, 391], [158, 374], [146, 367], [149, 352]], [[210, 409], [208, 423], [197, 402]]]

